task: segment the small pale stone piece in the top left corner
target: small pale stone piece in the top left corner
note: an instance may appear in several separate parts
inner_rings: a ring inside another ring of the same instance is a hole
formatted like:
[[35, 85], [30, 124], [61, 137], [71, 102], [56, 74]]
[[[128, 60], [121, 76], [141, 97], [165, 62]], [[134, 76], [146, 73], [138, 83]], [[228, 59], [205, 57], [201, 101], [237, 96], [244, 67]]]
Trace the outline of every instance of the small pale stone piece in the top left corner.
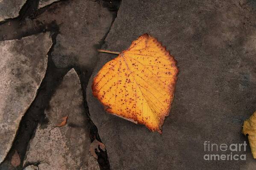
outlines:
[[0, 22], [18, 17], [19, 11], [25, 3], [26, 0], [0, 0]]

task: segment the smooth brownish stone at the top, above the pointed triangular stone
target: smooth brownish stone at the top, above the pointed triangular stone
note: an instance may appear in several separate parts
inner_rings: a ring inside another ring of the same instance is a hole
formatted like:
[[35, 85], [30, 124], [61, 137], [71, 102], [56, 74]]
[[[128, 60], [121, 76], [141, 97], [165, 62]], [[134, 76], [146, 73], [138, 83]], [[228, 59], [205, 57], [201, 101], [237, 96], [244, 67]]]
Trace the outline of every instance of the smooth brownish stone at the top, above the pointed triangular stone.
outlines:
[[77, 65], [92, 71], [98, 54], [95, 45], [99, 45], [109, 31], [113, 14], [92, 0], [59, 2], [49, 6], [37, 19], [45, 24], [55, 20], [59, 26], [52, 53], [56, 67]]

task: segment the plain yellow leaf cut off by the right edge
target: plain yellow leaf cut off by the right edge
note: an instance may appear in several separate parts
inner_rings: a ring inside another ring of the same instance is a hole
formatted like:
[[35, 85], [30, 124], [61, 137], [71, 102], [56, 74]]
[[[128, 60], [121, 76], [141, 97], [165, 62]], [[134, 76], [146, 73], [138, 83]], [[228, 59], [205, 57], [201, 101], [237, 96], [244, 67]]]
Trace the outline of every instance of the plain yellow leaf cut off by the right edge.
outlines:
[[244, 135], [248, 134], [251, 152], [253, 158], [256, 159], [256, 111], [249, 119], [244, 121], [242, 133], [244, 133]]

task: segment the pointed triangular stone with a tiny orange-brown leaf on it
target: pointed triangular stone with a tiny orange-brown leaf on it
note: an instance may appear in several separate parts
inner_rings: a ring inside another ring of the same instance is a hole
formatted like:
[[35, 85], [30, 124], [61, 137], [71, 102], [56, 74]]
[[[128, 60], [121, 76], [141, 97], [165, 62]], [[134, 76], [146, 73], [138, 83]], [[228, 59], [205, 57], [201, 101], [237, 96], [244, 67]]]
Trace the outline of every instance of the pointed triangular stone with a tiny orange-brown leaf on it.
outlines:
[[[53, 94], [45, 111], [47, 125], [38, 125], [29, 142], [24, 165], [45, 163], [40, 170], [98, 170], [89, 155], [90, 138], [86, 126], [82, 88], [76, 71], [71, 69]], [[68, 116], [65, 126], [55, 127]]]

